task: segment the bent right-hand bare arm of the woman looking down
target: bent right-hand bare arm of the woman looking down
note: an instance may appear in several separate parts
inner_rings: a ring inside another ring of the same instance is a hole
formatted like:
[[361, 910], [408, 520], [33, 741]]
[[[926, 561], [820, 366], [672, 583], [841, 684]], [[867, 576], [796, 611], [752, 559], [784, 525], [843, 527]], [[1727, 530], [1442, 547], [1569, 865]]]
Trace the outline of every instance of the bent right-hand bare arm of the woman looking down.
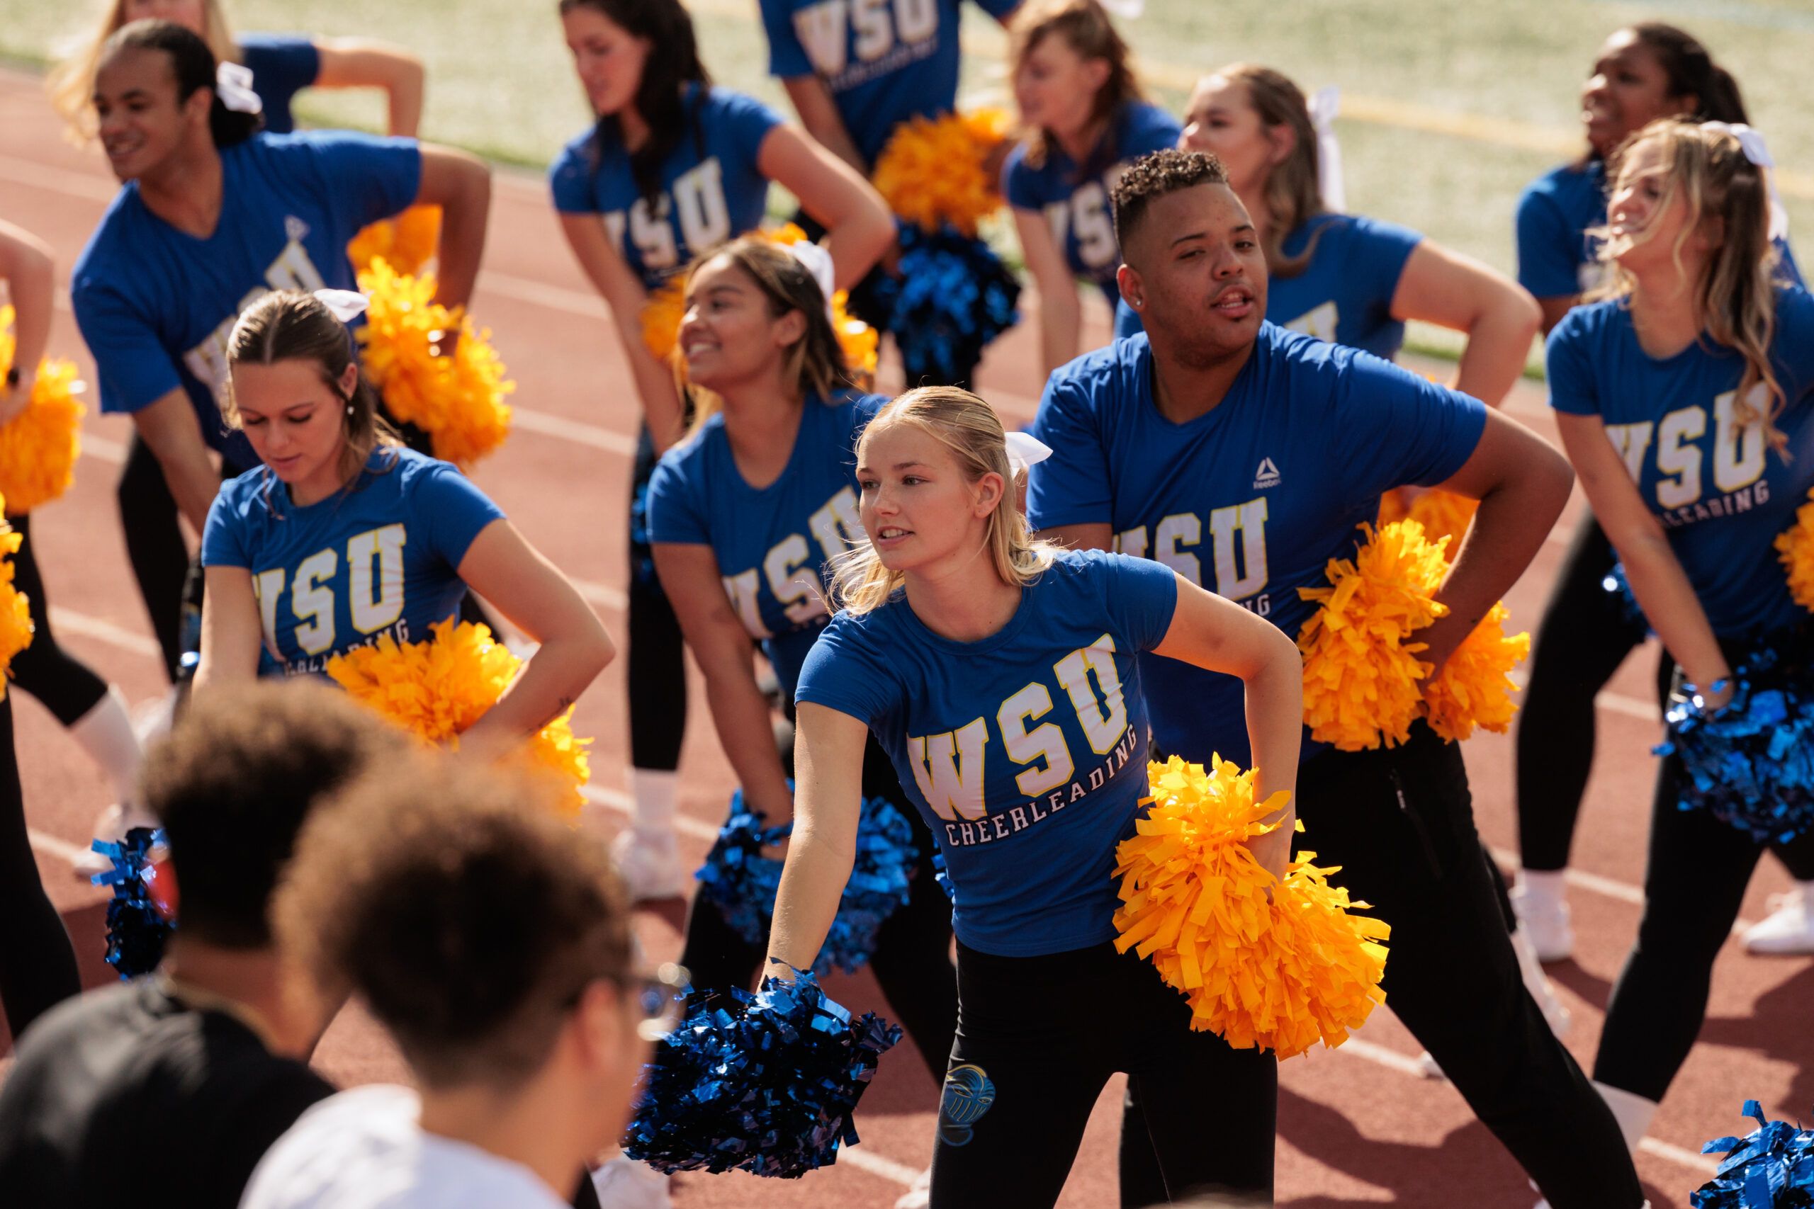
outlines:
[[463, 747], [497, 750], [559, 718], [615, 651], [579, 589], [508, 520], [479, 531], [461, 558], [459, 576], [541, 643], [497, 705], [461, 736]]

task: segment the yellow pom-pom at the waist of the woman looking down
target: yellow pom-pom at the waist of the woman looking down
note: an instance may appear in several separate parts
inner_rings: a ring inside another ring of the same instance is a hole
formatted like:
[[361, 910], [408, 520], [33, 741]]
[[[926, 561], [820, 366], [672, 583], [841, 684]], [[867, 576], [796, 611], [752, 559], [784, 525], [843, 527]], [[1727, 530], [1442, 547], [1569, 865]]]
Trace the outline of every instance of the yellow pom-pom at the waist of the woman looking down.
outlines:
[[[352, 700], [370, 705], [385, 720], [426, 743], [459, 747], [459, 734], [479, 721], [504, 696], [522, 660], [492, 638], [486, 625], [439, 622], [430, 642], [399, 643], [390, 634], [374, 645], [354, 647], [328, 660], [328, 676]], [[553, 772], [571, 787], [562, 812], [577, 817], [591, 778], [586, 749], [591, 740], [573, 738], [573, 711], [542, 727], [522, 750], [524, 767]]]

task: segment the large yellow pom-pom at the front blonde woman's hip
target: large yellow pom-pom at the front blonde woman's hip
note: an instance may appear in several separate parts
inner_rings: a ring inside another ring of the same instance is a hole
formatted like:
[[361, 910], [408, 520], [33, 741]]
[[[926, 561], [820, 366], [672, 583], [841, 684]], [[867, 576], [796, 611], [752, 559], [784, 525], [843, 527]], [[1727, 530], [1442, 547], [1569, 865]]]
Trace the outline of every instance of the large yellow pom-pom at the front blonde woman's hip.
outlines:
[[1237, 1049], [1288, 1059], [1342, 1044], [1386, 1001], [1391, 928], [1350, 914], [1366, 903], [1328, 885], [1335, 868], [1312, 865], [1315, 852], [1284, 881], [1253, 859], [1246, 845], [1277, 827], [1261, 819], [1281, 803], [1253, 801], [1252, 772], [1174, 756], [1148, 765], [1148, 781], [1152, 810], [1116, 848], [1116, 948], [1150, 959], [1190, 1001], [1190, 1026]]

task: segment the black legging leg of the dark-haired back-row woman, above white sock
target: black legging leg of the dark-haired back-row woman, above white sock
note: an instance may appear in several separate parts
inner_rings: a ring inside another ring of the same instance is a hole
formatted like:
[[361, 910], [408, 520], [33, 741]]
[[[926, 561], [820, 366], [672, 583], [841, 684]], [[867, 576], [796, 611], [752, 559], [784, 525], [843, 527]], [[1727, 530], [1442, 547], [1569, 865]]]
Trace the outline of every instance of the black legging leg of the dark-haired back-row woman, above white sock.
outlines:
[[629, 767], [673, 772], [686, 738], [686, 638], [655, 575], [649, 547], [649, 475], [655, 442], [644, 428], [629, 488]]

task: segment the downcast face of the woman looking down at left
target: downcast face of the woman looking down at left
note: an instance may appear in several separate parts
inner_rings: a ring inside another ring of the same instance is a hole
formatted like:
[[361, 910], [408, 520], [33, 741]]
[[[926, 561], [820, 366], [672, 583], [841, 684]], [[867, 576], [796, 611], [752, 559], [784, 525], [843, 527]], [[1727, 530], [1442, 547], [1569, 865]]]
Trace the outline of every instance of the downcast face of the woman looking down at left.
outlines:
[[290, 488], [292, 502], [314, 504], [339, 491], [346, 397], [357, 384], [357, 364], [346, 366], [336, 392], [314, 361], [234, 363], [239, 426], [259, 460]]

